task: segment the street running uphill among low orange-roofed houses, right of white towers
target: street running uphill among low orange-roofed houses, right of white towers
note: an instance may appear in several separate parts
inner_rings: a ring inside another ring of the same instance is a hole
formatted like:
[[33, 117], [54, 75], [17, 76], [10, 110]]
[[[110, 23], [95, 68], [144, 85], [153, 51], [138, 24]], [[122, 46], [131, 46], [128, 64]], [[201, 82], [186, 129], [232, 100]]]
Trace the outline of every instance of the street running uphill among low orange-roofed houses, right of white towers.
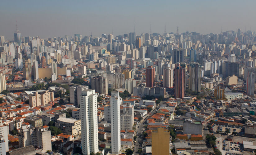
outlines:
[[141, 120], [141, 122], [139, 122], [139, 127], [137, 128], [136, 132], [138, 132], [137, 134], [137, 141], [136, 141], [136, 145], [135, 145], [135, 149], [134, 149], [134, 152], [133, 154], [134, 155], [138, 155], [138, 153], [136, 153], [138, 151], [138, 149], [142, 149], [142, 134], [144, 132], [144, 128], [142, 128], [142, 126], [144, 126], [144, 122], [146, 122], [146, 120], [151, 117], [152, 115], [154, 115], [157, 111], [157, 109], [160, 107], [161, 103], [164, 102], [164, 101], [161, 101], [158, 106], [151, 111], [151, 114], [148, 115], [147, 117], [145, 117], [144, 119]]

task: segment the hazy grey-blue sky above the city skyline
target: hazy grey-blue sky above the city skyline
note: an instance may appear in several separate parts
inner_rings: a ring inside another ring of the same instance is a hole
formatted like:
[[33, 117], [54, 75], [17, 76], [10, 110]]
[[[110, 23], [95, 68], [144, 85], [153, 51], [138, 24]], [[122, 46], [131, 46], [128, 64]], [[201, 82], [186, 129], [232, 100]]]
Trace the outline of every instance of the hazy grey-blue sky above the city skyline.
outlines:
[[13, 39], [18, 29], [24, 36], [40, 38], [74, 36], [75, 33], [100, 37], [119, 35], [196, 31], [256, 30], [255, 0], [97, 0], [34, 1], [3, 0], [0, 5], [0, 35]]

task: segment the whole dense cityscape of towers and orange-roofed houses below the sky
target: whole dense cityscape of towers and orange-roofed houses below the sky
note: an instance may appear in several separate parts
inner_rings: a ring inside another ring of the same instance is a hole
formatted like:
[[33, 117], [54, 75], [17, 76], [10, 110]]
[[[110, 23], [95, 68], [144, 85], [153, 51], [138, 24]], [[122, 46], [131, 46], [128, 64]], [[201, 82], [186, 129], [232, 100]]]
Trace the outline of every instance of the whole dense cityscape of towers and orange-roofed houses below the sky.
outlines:
[[16, 30], [0, 36], [0, 154], [254, 151], [255, 81], [251, 31]]

